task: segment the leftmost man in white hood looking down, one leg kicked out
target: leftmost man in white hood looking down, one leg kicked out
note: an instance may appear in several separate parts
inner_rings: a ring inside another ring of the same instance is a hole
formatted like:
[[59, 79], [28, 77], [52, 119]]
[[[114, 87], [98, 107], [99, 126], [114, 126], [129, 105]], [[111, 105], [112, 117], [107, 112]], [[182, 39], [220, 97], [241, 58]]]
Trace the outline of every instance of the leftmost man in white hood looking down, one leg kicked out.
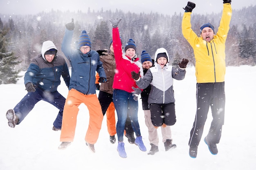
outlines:
[[40, 100], [48, 102], [59, 109], [52, 130], [61, 130], [65, 97], [57, 91], [63, 77], [67, 87], [70, 85], [70, 73], [63, 56], [57, 54], [52, 41], [43, 42], [41, 53], [31, 60], [24, 76], [27, 95], [6, 113], [8, 125], [14, 128], [34, 108]]

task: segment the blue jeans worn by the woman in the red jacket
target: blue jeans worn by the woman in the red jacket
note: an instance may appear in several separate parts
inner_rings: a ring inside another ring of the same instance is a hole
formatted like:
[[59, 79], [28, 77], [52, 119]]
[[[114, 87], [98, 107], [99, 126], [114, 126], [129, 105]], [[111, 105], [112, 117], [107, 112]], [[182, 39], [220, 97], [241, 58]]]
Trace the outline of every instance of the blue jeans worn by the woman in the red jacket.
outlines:
[[113, 102], [117, 110], [118, 141], [124, 141], [124, 126], [127, 116], [130, 117], [132, 129], [136, 136], [141, 136], [138, 121], [138, 101], [133, 99], [132, 93], [115, 89], [113, 91]]

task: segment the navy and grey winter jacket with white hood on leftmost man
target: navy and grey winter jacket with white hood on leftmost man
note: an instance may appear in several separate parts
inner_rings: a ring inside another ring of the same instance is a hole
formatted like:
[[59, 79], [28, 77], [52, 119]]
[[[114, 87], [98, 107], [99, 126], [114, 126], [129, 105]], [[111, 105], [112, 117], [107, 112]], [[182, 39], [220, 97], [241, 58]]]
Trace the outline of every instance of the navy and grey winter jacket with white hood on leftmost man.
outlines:
[[24, 76], [24, 84], [32, 82], [35, 87], [54, 92], [61, 84], [61, 76], [67, 87], [70, 85], [70, 73], [65, 58], [61, 55], [55, 55], [51, 63], [45, 60], [44, 54], [49, 49], [56, 49], [56, 47], [53, 42], [46, 41], [42, 46], [43, 55], [40, 53], [31, 60]]

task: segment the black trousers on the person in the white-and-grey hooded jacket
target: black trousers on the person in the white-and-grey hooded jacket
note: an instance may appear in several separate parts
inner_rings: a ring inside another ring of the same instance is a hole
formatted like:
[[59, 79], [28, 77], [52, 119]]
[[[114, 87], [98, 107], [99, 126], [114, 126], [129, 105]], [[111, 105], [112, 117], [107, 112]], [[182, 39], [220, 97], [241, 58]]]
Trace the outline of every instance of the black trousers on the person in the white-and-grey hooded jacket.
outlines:
[[175, 104], [149, 104], [151, 121], [154, 126], [172, 126], [176, 122]]

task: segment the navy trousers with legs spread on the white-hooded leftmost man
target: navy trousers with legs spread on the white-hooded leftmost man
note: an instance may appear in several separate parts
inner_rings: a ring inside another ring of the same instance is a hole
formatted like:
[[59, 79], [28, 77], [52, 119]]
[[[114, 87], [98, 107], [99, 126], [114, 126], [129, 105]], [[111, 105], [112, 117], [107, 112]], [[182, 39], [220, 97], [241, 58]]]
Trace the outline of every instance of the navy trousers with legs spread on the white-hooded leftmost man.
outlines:
[[58, 93], [58, 91], [47, 92], [40, 88], [36, 88], [35, 92], [28, 92], [27, 95], [25, 95], [23, 99], [21, 99], [20, 102], [13, 108], [15, 115], [19, 118], [17, 124], [20, 124], [20, 122], [34, 108], [35, 104], [40, 100], [48, 102], [60, 110], [53, 125], [56, 128], [61, 128], [63, 108], [66, 100], [65, 97]]

